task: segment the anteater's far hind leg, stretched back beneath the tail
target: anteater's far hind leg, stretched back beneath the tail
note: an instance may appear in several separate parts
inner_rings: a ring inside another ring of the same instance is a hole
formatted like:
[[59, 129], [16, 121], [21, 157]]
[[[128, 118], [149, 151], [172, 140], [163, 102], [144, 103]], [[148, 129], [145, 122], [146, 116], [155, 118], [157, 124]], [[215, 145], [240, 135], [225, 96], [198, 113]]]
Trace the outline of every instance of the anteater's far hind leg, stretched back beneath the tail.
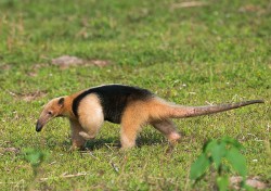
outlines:
[[170, 143], [176, 143], [181, 138], [173, 122], [170, 119], [155, 120], [151, 124], [154, 126], [154, 128], [164, 133], [168, 138]]

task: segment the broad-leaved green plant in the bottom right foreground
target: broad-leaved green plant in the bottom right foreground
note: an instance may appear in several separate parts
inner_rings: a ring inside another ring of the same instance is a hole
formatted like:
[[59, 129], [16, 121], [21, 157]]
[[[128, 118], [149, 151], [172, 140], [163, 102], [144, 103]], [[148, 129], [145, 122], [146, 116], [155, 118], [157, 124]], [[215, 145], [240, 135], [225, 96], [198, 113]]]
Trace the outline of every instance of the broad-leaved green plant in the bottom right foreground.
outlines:
[[207, 168], [214, 166], [217, 173], [217, 189], [220, 191], [227, 190], [230, 184], [228, 174], [230, 173], [229, 165], [231, 165], [243, 177], [241, 187], [248, 189], [245, 184], [246, 160], [241, 154], [243, 149], [238, 141], [229, 137], [207, 141], [203, 147], [203, 153], [191, 166], [190, 179], [195, 180], [196, 183], [205, 176]]

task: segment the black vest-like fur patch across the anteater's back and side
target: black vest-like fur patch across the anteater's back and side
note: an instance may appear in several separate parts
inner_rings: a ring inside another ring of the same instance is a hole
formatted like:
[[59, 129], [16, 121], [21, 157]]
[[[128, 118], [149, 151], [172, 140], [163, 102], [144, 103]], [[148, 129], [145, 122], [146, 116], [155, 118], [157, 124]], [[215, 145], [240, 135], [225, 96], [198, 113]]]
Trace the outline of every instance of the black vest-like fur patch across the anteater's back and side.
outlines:
[[74, 100], [73, 112], [75, 116], [78, 117], [78, 106], [81, 100], [90, 93], [95, 93], [100, 98], [104, 119], [115, 124], [120, 123], [121, 115], [128, 103], [138, 100], [147, 100], [154, 97], [149, 90], [137, 87], [122, 85], [95, 87], [82, 92]]

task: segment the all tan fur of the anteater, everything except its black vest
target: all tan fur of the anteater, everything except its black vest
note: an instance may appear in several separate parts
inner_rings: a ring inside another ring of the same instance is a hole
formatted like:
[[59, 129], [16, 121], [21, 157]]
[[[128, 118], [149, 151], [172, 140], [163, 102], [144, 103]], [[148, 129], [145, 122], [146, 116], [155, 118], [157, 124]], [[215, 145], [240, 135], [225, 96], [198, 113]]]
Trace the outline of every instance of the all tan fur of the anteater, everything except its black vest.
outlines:
[[[63, 103], [61, 102], [62, 98], [51, 100], [40, 114], [36, 130], [40, 131], [42, 126], [53, 117], [65, 116], [70, 122], [73, 150], [82, 149], [86, 140], [94, 139], [104, 122], [103, 109], [98, 96], [90, 93], [81, 100], [78, 106], [78, 117], [76, 117], [73, 113], [72, 104], [74, 99], [81, 92], [62, 97], [64, 99]], [[122, 149], [134, 147], [137, 135], [145, 124], [151, 124], [164, 133], [171, 143], [175, 143], [181, 136], [169, 118], [206, 115], [254, 103], [262, 103], [262, 101], [256, 100], [236, 104], [199, 107], [177, 105], [157, 97], [144, 101], [130, 101], [121, 115], [121, 147]]]

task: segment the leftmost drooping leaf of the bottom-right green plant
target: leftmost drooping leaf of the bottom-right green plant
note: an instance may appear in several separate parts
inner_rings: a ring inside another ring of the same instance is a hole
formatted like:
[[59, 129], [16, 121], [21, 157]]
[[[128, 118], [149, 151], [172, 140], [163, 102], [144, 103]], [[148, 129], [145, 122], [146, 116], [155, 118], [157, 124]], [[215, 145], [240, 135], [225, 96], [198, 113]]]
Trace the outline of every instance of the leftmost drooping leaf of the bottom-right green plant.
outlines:
[[209, 165], [210, 165], [209, 160], [204, 153], [202, 153], [197, 157], [197, 160], [191, 165], [190, 178], [192, 180], [198, 179], [201, 176], [204, 175]]

